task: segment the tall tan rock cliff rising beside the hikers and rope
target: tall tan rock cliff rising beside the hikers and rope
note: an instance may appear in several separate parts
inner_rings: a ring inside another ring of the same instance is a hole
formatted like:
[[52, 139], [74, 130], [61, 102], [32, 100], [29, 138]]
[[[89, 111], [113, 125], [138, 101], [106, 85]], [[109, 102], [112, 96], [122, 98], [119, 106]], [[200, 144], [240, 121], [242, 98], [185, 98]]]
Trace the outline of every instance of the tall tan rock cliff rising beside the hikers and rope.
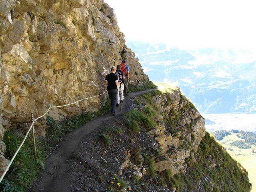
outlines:
[[[103, 0], [0, 1], [0, 140], [47, 106], [104, 92], [111, 66], [126, 59], [131, 80], [147, 80]], [[60, 120], [97, 110], [104, 96], [50, 110]], [[38, 126], [37, 126], [38, 128]], [[46, 126], [37, 134], [44, 135]], [[0, 153], [5, 146], [0, 141]], [[1, 156], [2, 157], [2, 156]]]

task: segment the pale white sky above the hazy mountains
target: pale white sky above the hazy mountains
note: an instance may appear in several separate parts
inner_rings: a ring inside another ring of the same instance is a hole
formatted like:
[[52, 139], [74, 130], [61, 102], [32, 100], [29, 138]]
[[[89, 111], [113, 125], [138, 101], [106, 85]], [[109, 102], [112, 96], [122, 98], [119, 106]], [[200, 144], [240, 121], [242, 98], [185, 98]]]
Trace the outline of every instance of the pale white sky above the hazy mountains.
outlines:
[[126, 40], [256, 50], [254, 0], [104, 0]]

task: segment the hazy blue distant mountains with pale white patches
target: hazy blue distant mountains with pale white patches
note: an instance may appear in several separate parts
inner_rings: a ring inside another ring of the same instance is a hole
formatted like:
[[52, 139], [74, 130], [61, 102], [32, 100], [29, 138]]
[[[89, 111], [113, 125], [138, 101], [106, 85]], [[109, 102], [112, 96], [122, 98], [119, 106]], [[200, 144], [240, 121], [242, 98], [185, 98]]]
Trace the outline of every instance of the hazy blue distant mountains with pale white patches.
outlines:
[[153, 82], [170, 82], [202, 113], [256, 113], [256, 56], [249, 51], [128, 41]]

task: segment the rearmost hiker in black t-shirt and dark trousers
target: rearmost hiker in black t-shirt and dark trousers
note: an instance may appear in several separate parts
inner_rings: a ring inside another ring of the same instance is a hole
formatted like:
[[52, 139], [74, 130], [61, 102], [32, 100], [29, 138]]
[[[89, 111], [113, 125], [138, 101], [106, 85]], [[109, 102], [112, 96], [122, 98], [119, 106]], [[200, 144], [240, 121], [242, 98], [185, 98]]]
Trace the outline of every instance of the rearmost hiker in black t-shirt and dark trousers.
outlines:
[[117, 86], [120, 84], [118, 82], [118, 77], [115, 74], [116, 67], [111, 67], [111, 73], [105, 78], [105, 84], [108, 84], [108, 95], [111, 101], [111, 114], [116, 115], [116, 103], [117, 103]]

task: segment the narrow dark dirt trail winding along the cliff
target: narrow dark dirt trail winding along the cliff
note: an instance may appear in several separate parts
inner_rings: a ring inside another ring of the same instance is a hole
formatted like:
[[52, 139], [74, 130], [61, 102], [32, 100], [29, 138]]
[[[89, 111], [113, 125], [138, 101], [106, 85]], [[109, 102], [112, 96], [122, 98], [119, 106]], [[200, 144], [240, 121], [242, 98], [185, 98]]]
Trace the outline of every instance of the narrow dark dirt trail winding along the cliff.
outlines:
[[[116, 108], [116, 116], [131, 109], [133, 98], [154, 89], [148, 89], [140, 92], [131, 93], [131, 97], [126, 97], [122, 103], [122, 112], [120, 106]], [[52, 154], [48, 156], [45, 162], [45, 170], [42, 172], [38, 183], [32, 187], [31, 192], [70, 192], [72, 178], [68, 176], [71, 170], [72, 157], [76, 155], [77, 146], [82, 140], [90, 136], [92, 132], [104, 126], [104, 122], [110, 122], [115, 116], [111, 116], [110, 112], [104, 116], [100, 116], [91, 122], [88, 122], [77, 128], [73, 132], [63, 137], [58, 143]]]

